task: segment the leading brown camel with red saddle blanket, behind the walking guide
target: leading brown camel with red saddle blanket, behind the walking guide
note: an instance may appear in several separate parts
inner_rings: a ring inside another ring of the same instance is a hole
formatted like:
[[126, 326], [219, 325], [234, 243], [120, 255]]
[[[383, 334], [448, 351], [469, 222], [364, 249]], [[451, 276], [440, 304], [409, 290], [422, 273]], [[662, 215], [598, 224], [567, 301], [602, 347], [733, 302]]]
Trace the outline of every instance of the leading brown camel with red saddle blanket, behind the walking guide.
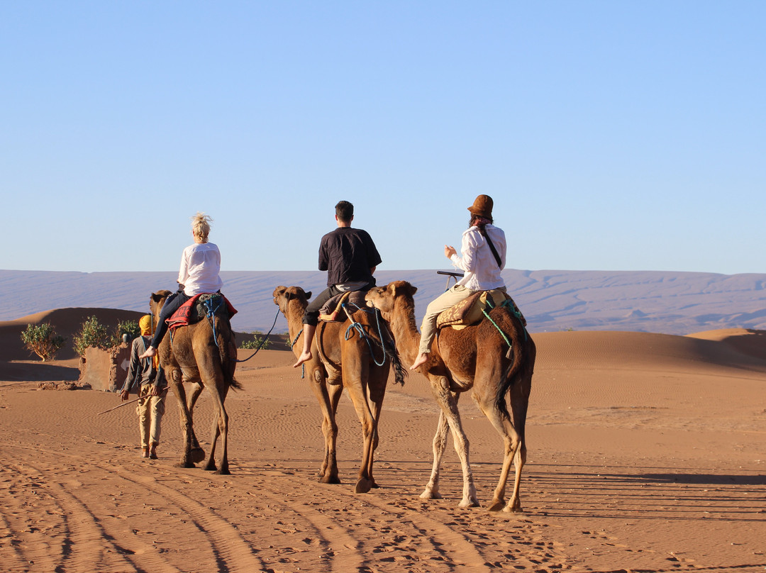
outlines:
[[[149, 300], [155, 324], [159, 311], [170, 295], [169, 290], [153, 293]], [[234, 332], [225, 317], [204, 318], [198, 323], [180, 326], [175, 332], [168, 332], [159, 345], [159, 364], [165, 370], [168, 384], [172, 386], [178, 409], [181, 412], [181, 430], [184, 437], [184, 449], [179, 467], [195, 467], [195, 462], [205, 458], [199, 447], [191, 414], [195, 402], [203, 388], [208, 388], [213, 397], [213, 429], [211, 450], [205, 470], [217, 470], [216, 473], [228, 474], [228, 429], [229, 417], [224, 408], [224, 401], [229, 388], [240, 388], [234, 380], [237, 367], [237, 345]], [[186, 394], [184, 382], [192, 385]], [[221, 464], [216, 467], [215, 447], [221, 437]]]

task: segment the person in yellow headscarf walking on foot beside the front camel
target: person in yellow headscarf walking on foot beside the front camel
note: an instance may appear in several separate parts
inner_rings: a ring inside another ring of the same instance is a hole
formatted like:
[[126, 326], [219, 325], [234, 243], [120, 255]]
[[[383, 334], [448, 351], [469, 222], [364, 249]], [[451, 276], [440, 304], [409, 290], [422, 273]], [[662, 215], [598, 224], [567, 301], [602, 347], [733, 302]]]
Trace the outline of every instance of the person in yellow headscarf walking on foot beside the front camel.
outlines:
[[157, 446], [165, 414], [165, 393], [168, 382], [165, 373], [159, 368], [157, 356], [141, 359], [152, 342], [152, 315], [144, 315], [139, 320], [141, 336], [133, 340], [130, 347], [130, 366], [128, 375], [120, 391], [120, 398], [126, 401], [131, 391], [139, 395], [136, 414], [139, 415], [139, 433], [141, 435], [141, 456], [157, 459]]

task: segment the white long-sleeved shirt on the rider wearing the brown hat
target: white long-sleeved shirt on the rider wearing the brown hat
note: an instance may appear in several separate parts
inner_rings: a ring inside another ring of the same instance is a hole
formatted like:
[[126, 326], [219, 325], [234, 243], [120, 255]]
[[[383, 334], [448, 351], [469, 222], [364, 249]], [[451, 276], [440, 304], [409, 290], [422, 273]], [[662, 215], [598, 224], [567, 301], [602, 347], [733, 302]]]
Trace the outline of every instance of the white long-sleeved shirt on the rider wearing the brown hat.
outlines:
[[465, 273], [457, 283], [468, 290], [498, 289], [506, 284], [500, 277], [500, 271], [506, 267], [506, 234], [493, 224], [487, 224], [484, 230], [495, 245], [500, 257], [500, 266], [497, 265], [492, 249], [477, 227], [463, 232], [460, 256], [453, 254], [450, 257], [453, 267]]

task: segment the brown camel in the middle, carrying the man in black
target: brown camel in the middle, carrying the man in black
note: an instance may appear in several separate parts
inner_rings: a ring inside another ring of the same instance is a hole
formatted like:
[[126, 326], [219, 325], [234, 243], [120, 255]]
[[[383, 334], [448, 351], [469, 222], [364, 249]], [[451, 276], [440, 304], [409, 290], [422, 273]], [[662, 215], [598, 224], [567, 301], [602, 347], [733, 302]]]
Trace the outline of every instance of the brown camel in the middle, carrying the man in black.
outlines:
[[[298, 343], [300, 336], [303, 336], [303, 311], [309, 304], [311, 293], [306, 293], [300, 286], [277, 286], [273, 296], [274, 304], [279, 306], [287, 319], [290, 341], [297, 357], [303, 346]], [[390, 360], [383, 360], [384, 350], [379, 342], [375, 317], [365, 309], [357, 309], [352, 313], [352, 318], [362, 325], [368, 337], [372, 337], [373, 340], [369, 341], [372, 347], [368, 340], [359, 336], [356, 329], [349, 328], [349, 319], [343, 323], [319, 323], [311, 346], [313, 358], [304, 363], [304, 368], [309, 385], [322, 408], [325, 458], [319, 470], [319, 482], [340, 483], [336, 459], [336, 410], [345, 388], [362, 423], [364, 442], [355, 492], [366, 493], [378, 487], [372, 476], [372, 460], [378, 447], [378, 421], [389, 367], [393, 362], [398, 372], [398, 381], [403, 377], [403, 369], [395, 353], [388, 354]], [[391, 352], [391, 349], [385, 352]], [[382, 362], [382, 365], [378, 365], [376, 360]]]

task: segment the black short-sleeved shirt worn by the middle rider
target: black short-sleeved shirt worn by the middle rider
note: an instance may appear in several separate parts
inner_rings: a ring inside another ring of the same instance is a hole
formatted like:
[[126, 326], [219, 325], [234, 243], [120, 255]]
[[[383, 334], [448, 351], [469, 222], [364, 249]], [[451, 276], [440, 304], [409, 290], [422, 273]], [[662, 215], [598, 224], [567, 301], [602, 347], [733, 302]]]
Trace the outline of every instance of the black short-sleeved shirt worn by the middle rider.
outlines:
[[358, 280], [375, 284], [370, 269], [379, 264], [381, 257], [367, 231], [339, 227], [322, 237], [319, 270], [327, 271], [327, 286]]

